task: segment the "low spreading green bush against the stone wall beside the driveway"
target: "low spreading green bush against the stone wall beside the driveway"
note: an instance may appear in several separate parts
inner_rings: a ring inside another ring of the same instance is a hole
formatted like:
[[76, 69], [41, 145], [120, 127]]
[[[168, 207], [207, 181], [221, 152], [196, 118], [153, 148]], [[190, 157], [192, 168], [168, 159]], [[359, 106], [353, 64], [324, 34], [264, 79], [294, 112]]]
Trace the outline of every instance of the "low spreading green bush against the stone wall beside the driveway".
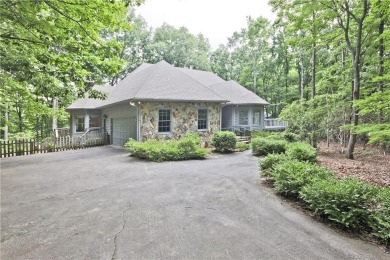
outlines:
[[125, 147], [130, 155], [155, 162], [204, 159], [208, 149], [200, 147], [200, 137], [188, 135], [180, 140], [147, 140], [137, 142], [129, 139]]

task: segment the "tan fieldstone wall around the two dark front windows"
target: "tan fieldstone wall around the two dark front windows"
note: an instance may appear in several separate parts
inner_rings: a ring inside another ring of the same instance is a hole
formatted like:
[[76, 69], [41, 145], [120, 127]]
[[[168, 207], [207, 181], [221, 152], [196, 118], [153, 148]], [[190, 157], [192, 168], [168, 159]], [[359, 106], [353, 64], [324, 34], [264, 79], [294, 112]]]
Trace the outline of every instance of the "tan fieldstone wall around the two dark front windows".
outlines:
[[[158, 110], [171, 110], [171, 133], [158, 133]], [[207, 109], [208, 130], [198, 130], [198, 109]], [[179, 139], [187, 133], [199, 133], [203, 141], [210, 141], [220, 130], [220, 103], [206, 102], [141, 102], [141, 137], [147, 139]]]

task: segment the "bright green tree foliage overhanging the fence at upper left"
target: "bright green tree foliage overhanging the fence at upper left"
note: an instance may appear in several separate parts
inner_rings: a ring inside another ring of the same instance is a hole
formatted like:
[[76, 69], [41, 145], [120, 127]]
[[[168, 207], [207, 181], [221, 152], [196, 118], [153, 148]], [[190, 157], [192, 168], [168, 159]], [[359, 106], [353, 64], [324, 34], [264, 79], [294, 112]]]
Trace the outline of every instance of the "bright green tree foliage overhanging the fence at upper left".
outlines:
[[[66, 107], [75, 95], [99, 96], [91, 89], [94, 83], [115, 75], [123, 64], [115, 55], [120, 45], [102, 39], [101, 32], [129, 28], [125, 15], [132, 3], [2, 1], [0, 106], [2, 111], [8, 109], [10, 118], [1, 122], [11, 122], [11, 128], [12, 121], [17, 122], [17, 131], [24, 131], [24, 125], [34, 127], [33, 121], [26, 120], [28, 114], [47, 112], [44, 108], [50, 108], [56, 98], [60, 107]], [[37, 136], [45, 117], [53, 117], [48, 114], [34, 118]]]

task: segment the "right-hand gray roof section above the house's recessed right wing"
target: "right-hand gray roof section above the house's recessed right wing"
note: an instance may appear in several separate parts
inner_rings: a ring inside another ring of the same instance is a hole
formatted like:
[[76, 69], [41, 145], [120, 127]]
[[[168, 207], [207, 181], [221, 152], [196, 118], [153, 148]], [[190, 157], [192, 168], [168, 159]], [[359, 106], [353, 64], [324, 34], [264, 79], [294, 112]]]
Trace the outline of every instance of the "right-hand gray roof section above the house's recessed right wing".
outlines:
[[209, 88], [229, 100], [228, 104], [269, 104], [267, 101], [234, 80], [217, 83], [209, 86]]

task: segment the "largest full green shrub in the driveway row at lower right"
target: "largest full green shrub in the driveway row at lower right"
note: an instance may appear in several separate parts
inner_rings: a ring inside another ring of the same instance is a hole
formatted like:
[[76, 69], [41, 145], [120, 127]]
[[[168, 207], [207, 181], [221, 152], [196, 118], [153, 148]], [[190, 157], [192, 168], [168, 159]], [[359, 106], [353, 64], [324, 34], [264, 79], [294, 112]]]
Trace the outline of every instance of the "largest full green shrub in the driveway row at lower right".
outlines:
[[314, 211], [344, 228], [366, 228], [378, 188], [357, 179], [328, 178], [305, 185], [300, 197]]

